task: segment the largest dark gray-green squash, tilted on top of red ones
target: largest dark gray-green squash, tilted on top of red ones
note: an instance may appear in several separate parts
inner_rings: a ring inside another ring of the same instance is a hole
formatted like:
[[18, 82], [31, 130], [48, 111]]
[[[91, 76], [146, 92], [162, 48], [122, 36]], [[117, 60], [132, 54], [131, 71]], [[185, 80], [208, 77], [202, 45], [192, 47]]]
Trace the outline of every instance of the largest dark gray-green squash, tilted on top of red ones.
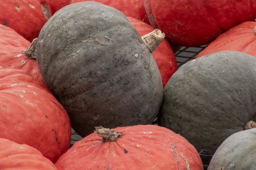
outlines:
[[81, 136], [95, 126], [150, 124], [163, 95], [156, 62], [118, 10], [68, 5], [43, 26], [36, 48], [43, 78]]

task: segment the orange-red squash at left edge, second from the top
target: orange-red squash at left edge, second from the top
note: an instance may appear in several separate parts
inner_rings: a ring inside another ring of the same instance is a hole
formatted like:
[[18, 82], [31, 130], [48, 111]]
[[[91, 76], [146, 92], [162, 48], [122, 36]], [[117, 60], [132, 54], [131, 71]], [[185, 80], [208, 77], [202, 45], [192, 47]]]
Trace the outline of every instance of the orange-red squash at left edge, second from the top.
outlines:
[[22, 69], [37, 79], [45, 89], [48, 89], [36, 60], [24, 53], [29, 45], [30, 42], [17, 32], [0, 25], [0, 66]]

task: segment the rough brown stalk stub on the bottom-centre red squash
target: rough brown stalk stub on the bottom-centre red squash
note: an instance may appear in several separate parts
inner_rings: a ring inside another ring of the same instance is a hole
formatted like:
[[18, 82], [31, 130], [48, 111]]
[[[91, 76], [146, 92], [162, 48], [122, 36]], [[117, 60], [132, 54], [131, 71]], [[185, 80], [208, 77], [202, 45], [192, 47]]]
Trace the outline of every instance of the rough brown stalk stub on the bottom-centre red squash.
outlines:
[[95, 127], [95, 131], [94, 131], [97, 135], [99, 135], [100, 137], [102, 137], [102, 141], [103, 142], [114, 142], [116, 141], [118, 138], [120, 138], [121, 136], [123, 136], [120, 132], [115, 131], [115, 130], [111, 130], [109, 128], [104, 128], [102, 126], [98, 126]]

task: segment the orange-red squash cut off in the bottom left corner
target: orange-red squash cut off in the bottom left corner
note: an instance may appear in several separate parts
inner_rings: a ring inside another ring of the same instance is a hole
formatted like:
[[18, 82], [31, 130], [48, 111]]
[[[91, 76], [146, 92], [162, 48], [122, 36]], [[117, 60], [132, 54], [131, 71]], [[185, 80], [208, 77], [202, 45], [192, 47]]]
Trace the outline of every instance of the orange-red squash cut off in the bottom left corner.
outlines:
[[35, 148], [4, 138], [0, 138], [0, 167], [1, 170], [57, 170]]

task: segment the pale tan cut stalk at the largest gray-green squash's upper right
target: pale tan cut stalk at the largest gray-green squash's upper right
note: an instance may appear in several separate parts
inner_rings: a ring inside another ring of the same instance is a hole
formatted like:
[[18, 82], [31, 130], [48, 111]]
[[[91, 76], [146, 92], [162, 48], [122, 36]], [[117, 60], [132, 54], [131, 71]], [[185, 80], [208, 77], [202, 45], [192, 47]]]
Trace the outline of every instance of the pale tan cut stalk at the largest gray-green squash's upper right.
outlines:
[[157, 46], [163, 41], [163, 39], [165, 38], [165, 34], [161, 30], [155, 29], [154, 31], [142, 36], [141, 38], [148, 47], [149, 51], [153, 52], [157, 48]]

